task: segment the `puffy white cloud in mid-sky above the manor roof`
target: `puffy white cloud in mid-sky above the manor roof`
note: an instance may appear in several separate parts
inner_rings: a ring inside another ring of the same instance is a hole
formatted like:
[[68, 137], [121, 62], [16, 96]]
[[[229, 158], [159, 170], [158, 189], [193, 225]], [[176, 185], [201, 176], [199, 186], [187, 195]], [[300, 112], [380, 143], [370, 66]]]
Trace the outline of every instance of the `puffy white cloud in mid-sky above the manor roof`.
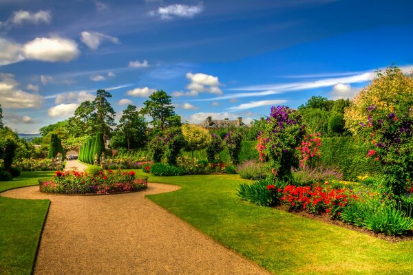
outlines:
[[191, 72], [187, 73], [186, 76], [191, 80], [191, 83], [187, 85], [187, 89], [190, 90], [191, 94], [185, 95], [198, 96], [198, 93], [201, 92], [218, 95], [222, 94], [221, 89], [218, 87], [220, 85], [218, 77], [201, 73], [192, 74]]

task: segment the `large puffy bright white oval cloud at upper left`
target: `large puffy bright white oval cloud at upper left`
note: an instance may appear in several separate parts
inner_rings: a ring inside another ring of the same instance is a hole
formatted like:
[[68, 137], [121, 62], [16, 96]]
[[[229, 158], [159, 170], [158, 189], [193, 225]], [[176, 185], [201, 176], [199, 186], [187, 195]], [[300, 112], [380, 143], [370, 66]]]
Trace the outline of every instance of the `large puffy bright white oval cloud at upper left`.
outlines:
[[38, 37], [23, 46], [23, 54], [27, 59], [38, 61], [72, 61], [78, 57], [76, 42], [61, 37]]

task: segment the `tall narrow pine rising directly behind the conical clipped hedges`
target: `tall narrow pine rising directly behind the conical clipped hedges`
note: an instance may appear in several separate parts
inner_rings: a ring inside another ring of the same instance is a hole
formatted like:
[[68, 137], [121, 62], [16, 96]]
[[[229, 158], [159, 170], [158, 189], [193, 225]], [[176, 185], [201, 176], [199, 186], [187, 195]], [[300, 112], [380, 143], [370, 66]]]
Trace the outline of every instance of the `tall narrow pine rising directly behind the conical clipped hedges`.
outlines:
[[112, 131], [112, 126], [115, 125], [116, 114], [107, 98], [112, 98], [112, 94], [108, 91], [103, 89], [96, 91], [96, 98], [93, 101], [95, 113], [92, 115], [94, 118], [94, 129], [103, 133], [103, 140], [105, 142], [110, 131]]

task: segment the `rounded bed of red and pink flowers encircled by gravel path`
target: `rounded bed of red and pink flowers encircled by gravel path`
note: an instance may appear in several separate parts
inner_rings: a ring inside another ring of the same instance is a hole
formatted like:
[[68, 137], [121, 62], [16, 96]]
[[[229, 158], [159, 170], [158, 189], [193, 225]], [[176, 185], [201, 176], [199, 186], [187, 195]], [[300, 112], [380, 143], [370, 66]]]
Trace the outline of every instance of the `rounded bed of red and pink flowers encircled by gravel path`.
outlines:
[[147, 188], [148, 177], [137, 177], [134, 171], [100, 170], [95, 174], [57, 171], [52, 179], [41, 179], [40, 192], [59, 194], [117, 194]]

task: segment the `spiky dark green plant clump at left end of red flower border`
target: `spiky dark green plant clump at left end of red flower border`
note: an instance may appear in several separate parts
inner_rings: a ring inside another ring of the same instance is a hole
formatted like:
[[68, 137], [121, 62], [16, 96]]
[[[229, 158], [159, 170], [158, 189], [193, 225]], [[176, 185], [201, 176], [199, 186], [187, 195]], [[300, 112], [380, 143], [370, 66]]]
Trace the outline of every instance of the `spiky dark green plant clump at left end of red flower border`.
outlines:
[[[253, 184], [242, 183], [237, 188], [237, 196], [259, 206], [275, 206], [279, 204], [279, 198], [282, 196], [282, 192], [277, 192], [277, 189], [286, 185], [284, 181], [272, 179], [260, 179]], [[268, 190], [268, 186], [274, 188]]]

